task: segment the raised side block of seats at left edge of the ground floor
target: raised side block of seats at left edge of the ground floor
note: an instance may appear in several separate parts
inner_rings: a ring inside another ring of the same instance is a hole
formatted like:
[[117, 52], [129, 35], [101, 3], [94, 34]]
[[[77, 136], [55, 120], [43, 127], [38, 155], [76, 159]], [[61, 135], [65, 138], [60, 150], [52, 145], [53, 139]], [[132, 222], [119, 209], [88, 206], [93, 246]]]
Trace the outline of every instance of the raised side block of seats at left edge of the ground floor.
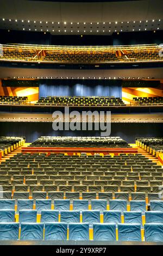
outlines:
[[24, 137], [5, 137], [0, 136], [0, 152], [2, 156], [7, 155], [18, 146], [23, 145], [25, 142]]

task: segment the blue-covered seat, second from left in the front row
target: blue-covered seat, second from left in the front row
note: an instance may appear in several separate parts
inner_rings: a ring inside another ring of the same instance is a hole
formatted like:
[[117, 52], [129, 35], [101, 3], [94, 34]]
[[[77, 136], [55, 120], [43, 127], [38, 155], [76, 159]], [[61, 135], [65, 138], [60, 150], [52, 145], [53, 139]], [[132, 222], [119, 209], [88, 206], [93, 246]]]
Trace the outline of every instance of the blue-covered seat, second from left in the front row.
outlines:
[[43, 223], [21, 223], [20, 240], [43, 240]]

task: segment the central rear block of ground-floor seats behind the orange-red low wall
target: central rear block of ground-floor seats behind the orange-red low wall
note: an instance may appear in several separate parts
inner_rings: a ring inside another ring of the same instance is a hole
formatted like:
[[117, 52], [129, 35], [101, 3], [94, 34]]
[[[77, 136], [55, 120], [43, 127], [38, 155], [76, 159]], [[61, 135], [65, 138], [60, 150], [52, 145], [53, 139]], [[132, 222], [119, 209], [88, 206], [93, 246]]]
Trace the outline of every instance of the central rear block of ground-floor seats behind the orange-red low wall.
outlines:
[[32, 142], [29, 147], [130, 148], [130, 145], [120, 137], [41, 136]]

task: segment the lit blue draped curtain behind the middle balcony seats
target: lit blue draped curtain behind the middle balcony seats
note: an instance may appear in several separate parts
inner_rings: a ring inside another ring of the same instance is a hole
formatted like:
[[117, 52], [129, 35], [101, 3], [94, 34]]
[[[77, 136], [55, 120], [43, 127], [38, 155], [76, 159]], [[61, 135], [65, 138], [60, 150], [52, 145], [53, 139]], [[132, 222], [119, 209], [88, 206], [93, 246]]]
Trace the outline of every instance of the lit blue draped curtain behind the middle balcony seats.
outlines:
[[53, 80], [39, 86], [39, 97], [115, 96], [122, 98], [121, 80]]

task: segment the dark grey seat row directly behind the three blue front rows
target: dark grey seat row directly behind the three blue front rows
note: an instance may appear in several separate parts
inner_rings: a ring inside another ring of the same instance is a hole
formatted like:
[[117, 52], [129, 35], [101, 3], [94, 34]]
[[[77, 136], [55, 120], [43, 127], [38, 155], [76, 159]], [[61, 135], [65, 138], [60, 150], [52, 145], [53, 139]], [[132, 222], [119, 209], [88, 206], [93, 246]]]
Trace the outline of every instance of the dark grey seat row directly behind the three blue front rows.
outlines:
[[[73, 200], [85, 200], [84, 202], [87, 205], [89, 203], [89, 209], [91, 205], [91, 200], [95, 200], [92, 202], [96, 202], [101, 204], [100, 200], [104, 200], [106, 203], [106, 209], [109, 207], [110, 200], [127, 200], [127, 204], [129, 205], [130, 201], [145, 201], [150, 205], [151, 200], [162, 200], [161, 191], [159, 193], [145, 193], [145, 192], [63, 192], [63, 191], [33, 191], [31, 194], [29, 192], [20, 192], [14, 191], [3, 191], [2, 193], [3, 199], [12, 199], [12, 204], [15, 205], [18, 199], [28, 200], [29, 198], [32, 200], [36, 199], [51, 199], [52, 204], [54, 204], [54, 200], [67, 200], [67, 204], [69, 204], [68, 209], [72, 208], [71, 204]], [[69, 200], [69, 201], [68, 201]], [[32, 202], [32, 201], [30, 201]], [[61, 201], [64, 202], [64, 201]], [[82, 202], [82, 201], [81, 201]], [[105, 209], [105, 210], [106, 210]], [[128, 208], [129, 209], [129, 208]]]

